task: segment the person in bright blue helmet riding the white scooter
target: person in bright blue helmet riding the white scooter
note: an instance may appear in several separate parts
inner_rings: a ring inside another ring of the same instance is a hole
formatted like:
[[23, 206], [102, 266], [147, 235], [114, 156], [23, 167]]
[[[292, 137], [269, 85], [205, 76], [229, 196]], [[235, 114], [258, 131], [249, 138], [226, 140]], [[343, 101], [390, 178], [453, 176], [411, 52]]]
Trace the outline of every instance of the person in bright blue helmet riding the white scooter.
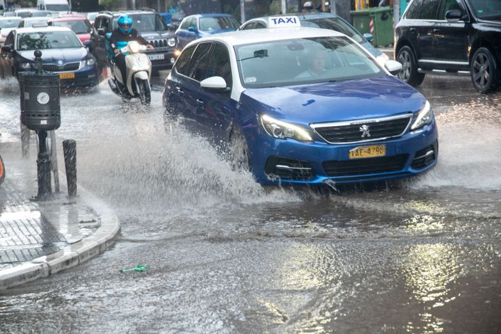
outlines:
[[118, 28], [111, 33], [110, 45], [115, 53], [115, 63], [122, 73], [122, 80], [125, 81], [127, 73], [125, 72], [125, 54], [120, 53], [122, 47], [127, 46], [127, 42], [136, 40], [139, 44], [146, 45], [147, 49], [154, 49], [153, 45], [138, 36], [138, 31], [132, 28], [132, 17], [129, 15], [122, 15], [118, 17]]

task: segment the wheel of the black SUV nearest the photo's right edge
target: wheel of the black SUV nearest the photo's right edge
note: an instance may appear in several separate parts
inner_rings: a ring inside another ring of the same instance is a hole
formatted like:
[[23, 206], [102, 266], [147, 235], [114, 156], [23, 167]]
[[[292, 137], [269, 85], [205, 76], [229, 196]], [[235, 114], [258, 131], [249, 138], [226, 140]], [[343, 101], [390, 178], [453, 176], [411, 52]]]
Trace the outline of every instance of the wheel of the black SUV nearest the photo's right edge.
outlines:
[[498, 86], [498, 70], [500, 64], [496, 63], [491, 51], [481, 47], [473, 54], [470, 74], [473, 86], [482, 94], [495, 90]]

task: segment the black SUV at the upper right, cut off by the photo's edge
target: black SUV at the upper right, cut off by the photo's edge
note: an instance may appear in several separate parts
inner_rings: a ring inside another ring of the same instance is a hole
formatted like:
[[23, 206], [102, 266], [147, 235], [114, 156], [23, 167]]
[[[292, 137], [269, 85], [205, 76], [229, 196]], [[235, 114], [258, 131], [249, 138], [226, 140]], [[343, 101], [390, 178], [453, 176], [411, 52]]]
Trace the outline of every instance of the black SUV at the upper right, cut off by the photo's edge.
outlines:
[[480, 93], [501, 83], [501, 0], [413, 0], [395, 28], [399, 78], [470, 73]]

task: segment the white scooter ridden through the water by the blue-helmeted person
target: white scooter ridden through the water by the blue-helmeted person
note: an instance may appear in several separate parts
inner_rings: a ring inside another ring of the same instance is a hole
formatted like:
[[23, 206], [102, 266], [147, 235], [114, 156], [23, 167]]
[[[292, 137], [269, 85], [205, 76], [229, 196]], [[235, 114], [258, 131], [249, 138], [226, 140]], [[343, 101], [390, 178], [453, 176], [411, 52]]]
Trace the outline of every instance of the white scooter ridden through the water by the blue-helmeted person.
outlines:
[[150, 58], [143, 53], [144, 51], [146, 51], [145, 45], [140, 45], [135, 40], [127, 42], [127, 46], [120, 48], [120, 52], [125, 54], [127, 78], [124, 81], [122, 72], [112, 62], [111, 73], [113, 77], [108, 79], [108, 84], [116, 95], [127, 100], [139, 97], [142, 104], [150, 105], [152, 64]]

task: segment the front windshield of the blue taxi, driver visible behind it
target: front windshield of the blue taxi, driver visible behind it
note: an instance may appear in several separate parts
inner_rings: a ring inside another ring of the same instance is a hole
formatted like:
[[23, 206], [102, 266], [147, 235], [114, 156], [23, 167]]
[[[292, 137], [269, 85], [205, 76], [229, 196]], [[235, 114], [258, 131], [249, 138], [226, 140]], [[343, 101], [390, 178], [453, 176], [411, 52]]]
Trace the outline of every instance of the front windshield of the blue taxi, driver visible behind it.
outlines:
[[235, 47], [242, 86], [282, 87], [381, 77], [385, 72], [345, 37], [275, 40]]

